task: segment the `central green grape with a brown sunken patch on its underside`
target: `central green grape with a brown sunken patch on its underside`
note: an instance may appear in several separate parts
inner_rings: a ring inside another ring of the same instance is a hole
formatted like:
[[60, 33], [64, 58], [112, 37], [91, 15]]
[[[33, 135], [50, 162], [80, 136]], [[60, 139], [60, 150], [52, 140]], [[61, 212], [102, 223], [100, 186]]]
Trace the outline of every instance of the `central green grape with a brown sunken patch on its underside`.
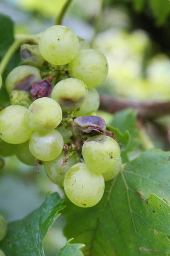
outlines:
[[68, 78], [54, 86], [51, 98], [56, 100], [63, 111], [74, 111], [85, 101], [88, 88], [79, 79]]

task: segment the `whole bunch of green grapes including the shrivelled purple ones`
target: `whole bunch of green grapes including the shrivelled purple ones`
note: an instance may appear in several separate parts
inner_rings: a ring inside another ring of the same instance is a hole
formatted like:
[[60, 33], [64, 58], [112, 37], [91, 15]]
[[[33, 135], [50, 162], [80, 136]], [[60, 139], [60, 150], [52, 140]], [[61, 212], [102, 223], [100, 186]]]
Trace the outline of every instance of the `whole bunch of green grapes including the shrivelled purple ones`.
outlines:
[[96, 116], [94, 87], [105, 80], [108, 61], [59, 25], [46, 29], [39, 45], [24, 44], [20, 51], [22, 65], [6, 79], [11, 105], [0, 111], [0, 155], [44, 164], [71, 202], [92, 207], [102, 198], [105, 181], [122, 166], [114, 134]]

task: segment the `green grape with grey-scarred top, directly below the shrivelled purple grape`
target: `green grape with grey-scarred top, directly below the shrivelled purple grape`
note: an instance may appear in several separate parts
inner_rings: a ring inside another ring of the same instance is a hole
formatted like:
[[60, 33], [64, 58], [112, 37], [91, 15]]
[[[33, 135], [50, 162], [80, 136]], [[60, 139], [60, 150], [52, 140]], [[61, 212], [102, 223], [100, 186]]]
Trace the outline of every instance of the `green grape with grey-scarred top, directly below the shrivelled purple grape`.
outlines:
[[85, 141], [82, 156], [93, 172], [109, 172], [119, 162], [120, 147], [113, 138], [96, 135]]

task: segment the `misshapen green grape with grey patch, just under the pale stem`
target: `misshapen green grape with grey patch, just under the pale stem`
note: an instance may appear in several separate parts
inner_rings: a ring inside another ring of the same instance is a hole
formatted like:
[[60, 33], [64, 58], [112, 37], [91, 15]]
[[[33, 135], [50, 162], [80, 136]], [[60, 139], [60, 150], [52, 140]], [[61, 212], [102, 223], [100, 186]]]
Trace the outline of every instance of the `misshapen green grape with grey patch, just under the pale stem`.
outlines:
[[38, 45], [22, 44], [20, 52], [21, 60], [24, 64], [34, 67], [42, 67], [45, 59], [42, 57]]

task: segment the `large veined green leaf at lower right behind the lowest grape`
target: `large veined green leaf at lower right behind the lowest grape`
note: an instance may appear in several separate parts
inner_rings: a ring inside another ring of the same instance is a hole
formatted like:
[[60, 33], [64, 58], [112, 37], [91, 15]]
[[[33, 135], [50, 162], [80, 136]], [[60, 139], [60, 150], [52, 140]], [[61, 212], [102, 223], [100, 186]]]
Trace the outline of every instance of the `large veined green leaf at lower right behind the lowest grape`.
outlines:
[[127, 163], [105, 183], [95, 207], [80, 208], [65, 200], [65, 235], [85, 243], [86, 256], [170, 253], [170, 206], [161, 199], [170, 198], [169, 157], [170, 152], [150, 149]]

